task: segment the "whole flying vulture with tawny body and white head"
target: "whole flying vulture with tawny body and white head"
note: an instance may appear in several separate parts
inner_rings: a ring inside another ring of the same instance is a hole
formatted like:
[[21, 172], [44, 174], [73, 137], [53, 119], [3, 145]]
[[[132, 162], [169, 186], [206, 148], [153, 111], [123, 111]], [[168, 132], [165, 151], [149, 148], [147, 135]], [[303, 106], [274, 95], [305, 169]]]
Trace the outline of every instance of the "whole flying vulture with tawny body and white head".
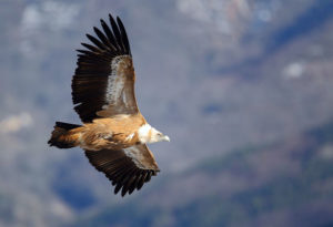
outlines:
[[72, 78], [72, 101], [82, 125], [56, 122], [50, 146], [85, 151], [91, 165], [112, 182], [114, 194], [140, 189], [160, 171], [147, 144], [170, 141], [138, 109], [130, 43], [123, 23], [109, 14], [108, 24], [87, 34]]

